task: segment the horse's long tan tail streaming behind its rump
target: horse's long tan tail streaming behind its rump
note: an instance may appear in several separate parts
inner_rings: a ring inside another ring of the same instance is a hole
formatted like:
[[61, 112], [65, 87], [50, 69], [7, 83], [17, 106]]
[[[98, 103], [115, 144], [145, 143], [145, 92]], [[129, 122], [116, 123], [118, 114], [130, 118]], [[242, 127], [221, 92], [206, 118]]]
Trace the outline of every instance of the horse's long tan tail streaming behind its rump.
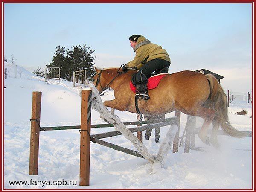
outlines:
[[207, 101], [207, 107], [212, 108], [215, 111], [215, 118], [213, 121], [218, 122], [221, 125], [222, 130], [232, 137], [245, 137], [246, 133], [241, 132], [233, 128], [228, 119], [228, 101], [227, 95], [224, 93], [218, 80], [212, 75], [205, 75], [209, 81], [211, 93]]

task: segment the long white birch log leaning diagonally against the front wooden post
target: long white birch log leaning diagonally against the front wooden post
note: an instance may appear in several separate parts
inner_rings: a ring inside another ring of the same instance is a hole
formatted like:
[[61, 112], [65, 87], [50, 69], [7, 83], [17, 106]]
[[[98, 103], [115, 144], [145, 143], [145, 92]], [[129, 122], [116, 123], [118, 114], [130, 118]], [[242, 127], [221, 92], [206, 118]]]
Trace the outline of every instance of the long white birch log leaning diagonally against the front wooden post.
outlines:
[[125, 127], [125, 125], [121, 122], [118, 116], [112, 115], [110, 111], [103, 105], [103, 102], [99, 96], [98, 90], [95, 88], [94, 84], [90, 83], [89, 87], [93, 93], [92, 99], [92, 107], [98, 111], [101, 116], [115, 126], [116, 131], [120, 131], [124, 137], [131, 141], [131, 143], [138, 149], [140, 154], [145, 157], [150, 163], [154, 163], [154, 156], [148, 152], [148, 149], [140, 142], [140, 140], [132, 134], [132, 132]]

